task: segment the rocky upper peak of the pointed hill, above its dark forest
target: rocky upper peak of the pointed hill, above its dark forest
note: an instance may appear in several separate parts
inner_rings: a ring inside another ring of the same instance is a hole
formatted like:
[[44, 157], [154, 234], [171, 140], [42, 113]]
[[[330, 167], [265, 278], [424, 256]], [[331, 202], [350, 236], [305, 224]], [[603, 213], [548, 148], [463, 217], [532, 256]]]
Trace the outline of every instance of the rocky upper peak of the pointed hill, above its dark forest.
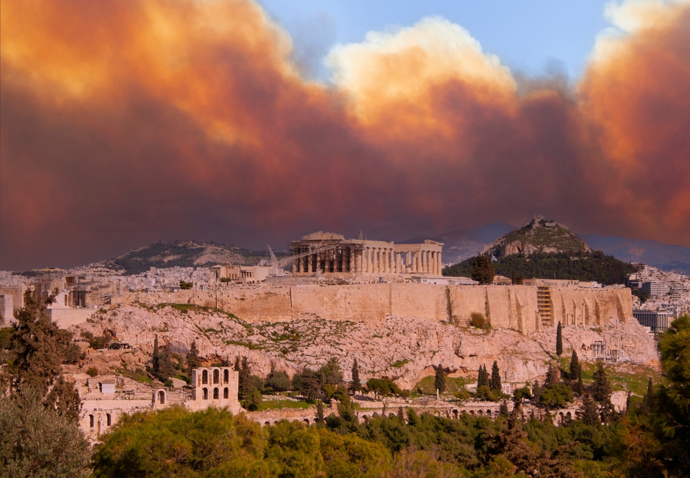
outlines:
[[530, 255], [535, 252], [573, 254], [591, 252], [591, 249], [562, 224], [538, 216], [524, 224], [522, 228], [502, 235], [486, 246], [482, 252], [495, 256], [507, 256], [521, 253]]

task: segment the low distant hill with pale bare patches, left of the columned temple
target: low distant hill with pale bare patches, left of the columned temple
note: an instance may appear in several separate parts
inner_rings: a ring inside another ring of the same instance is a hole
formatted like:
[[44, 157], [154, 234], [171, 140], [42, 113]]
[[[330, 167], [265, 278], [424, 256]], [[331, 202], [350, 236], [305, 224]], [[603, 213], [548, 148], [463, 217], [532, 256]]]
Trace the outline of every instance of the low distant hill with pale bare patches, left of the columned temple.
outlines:
[[250, 266], [265, 258], [266, 251], [243, 249], [233, 245], [168, 241], [130, 250], [114, 259], [103, 261], [103, 265], [115, 270], [124, 269], [126, 274], [139, 274], [152, 267], [215, 266], [222, 263]]

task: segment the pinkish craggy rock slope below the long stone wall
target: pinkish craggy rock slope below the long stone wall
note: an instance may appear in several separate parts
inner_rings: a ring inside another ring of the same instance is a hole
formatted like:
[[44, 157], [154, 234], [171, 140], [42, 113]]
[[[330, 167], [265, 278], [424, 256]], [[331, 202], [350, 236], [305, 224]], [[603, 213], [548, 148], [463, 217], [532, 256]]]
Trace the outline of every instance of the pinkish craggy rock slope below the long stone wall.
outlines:
[[[184, 310], [184, 311], [183, 311]], [[289, 322], [244, 323], [221, 312], [190, 306], [151, 308], [127, 305], [100, 313], [72, 327], [96, 335], [109, 330], [119, 341], [150, 353], [155, 335], [173, 352], [186, 353], [197, 341], [202, 356], [233, 360], [248, 357], [253, 372], [266, 376], [273, 361], [288, 374], [315, 368], [337, 357], [349, 379], [357, 359], [364, 379], [391, 377], [411, 388], [441, 364], [453, 376], [475, 377], [481, 364], [498, 361], [506, 382], [523, 384], [543, 378], [555, 350], [555, 328], [522, 335], [509, 329], [485, 333], [447, 322], [410, 317], [355, 323], [321, 318]], [[575, 348], [581, 360], [595, 359], [595, 342], [615, 347], [633, 364], [658, 367], [653, 338], [636, 321], [607, 326], [566, 326], [564, 356]]]

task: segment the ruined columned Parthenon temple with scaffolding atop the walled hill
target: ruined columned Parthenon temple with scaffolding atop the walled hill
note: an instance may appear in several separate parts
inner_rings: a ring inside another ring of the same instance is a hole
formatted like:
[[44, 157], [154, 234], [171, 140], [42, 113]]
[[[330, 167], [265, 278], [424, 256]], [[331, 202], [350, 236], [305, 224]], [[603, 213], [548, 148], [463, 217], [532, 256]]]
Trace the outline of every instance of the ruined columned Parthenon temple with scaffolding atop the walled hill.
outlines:
[[333, 232], [314, 232], [292, 241], [293, 275], [441, 275], [443, 243], [420, 244], [345, 239]]

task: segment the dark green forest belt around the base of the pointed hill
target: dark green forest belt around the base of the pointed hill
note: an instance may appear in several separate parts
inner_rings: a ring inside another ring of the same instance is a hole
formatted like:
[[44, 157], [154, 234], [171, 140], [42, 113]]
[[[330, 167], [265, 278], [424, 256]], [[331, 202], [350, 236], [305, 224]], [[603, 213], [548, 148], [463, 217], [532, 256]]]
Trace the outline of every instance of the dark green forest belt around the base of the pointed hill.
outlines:
[[[470, 277], [474, 259], [466, 259], [445, 268], [443, 275]], [[624, 283], [625, 275], [634, 272], [633, 266], [619, 261], [603, 252], [578, 252], [574, 255], [559, 252], [535, 252], [529, 256], [512, 254], [498, 257], [493, 263], [496, 274], [505, 277], [523, 277], [524, 279], [573, 279], [579, 281], [597, 281], [605, 286]]]

